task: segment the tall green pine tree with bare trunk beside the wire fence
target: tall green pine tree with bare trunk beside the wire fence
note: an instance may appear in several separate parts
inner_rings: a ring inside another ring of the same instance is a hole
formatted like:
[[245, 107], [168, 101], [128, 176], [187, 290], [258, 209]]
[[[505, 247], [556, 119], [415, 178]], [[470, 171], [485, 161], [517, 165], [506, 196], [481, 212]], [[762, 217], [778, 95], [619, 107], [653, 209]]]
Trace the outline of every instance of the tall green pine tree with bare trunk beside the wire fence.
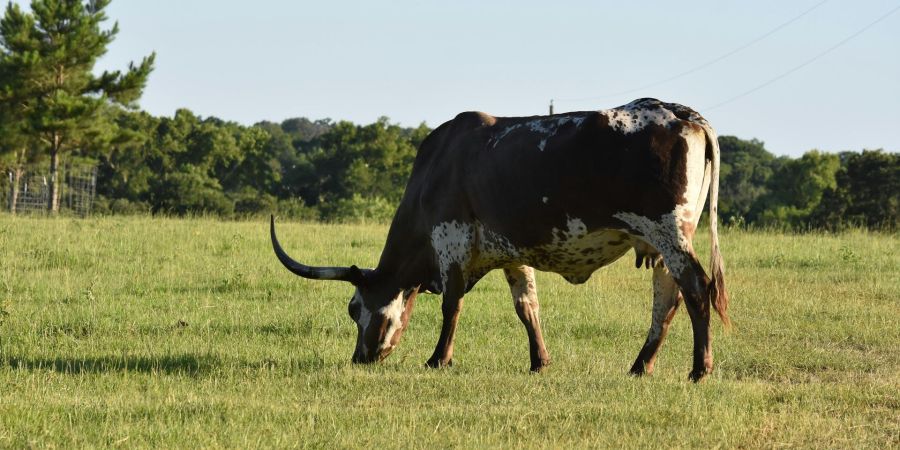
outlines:
[[21, 118], [50, 157], [48, 209], [59, 208], [60, 155], [109, 134], [102, 109], [134, 106], [153, 70], [155, 53], [128, 70], [93, 74], [119, 31], [103, 30], [110, 0], [33, 0], [31, 13], [10, 2], [0, 20], [0, 103]]

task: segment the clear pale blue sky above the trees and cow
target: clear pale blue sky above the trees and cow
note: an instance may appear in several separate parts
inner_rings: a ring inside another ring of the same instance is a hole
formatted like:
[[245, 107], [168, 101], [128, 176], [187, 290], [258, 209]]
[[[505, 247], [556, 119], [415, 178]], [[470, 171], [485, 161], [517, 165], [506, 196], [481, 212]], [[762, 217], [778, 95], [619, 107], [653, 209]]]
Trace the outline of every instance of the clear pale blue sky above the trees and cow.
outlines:
[[[900, 12], [746, 97], [865, 27], [900, 0], [276, 1], [114, 0], [121, 27], [101, 61], [123, 68], [156, 51], [141, 106], [186, 107], [252, 124], [289, 117], [436, 126], [494, 115], [603, 109], [656, 97], [699, 110], [719, 134], [776, 154], [900, 151]], [[24, 2], [23, 2], [24, 3]]]

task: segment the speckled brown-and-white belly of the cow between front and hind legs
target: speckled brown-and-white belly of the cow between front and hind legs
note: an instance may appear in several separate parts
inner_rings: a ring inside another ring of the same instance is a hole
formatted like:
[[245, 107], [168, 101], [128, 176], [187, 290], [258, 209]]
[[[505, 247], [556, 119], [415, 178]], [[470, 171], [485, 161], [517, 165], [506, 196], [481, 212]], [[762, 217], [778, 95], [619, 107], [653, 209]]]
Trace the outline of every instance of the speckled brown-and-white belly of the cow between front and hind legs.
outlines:
[[478, 229], [478, 253], [471, 272], [478, 276], [501, 267], [527, 265], [555, 272], [571, 283], [584, 283], [597, 269], [624, 255], [634, 244], [631, 236], [619, 230], [588, 232], [580, 221], [569, 222], [567, 230], [553, 229], [551, 240], [535, 247], [520, 248], [504, 236]]

